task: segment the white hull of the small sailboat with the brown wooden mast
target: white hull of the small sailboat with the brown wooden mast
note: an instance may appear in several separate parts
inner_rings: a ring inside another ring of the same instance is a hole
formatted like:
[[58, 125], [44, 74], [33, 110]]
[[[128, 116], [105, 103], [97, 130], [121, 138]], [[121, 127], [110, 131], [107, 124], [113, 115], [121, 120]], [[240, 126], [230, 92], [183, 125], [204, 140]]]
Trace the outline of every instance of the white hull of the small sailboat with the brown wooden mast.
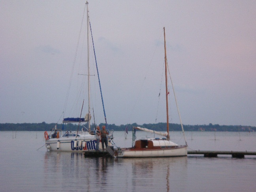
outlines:
[[132, 157], [177, 157], [187, 156], [187, 146], [172, 149], [119, 149], [114, 157], [132, 158]]

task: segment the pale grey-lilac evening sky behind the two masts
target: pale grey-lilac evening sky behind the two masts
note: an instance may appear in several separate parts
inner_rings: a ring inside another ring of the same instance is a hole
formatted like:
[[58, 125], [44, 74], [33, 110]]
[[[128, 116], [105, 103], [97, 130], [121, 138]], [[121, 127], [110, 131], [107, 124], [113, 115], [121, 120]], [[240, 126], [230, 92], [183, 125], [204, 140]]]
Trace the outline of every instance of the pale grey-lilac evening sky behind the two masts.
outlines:
[[[0, 123], [61, 122], [84, 7], [84, 0], [0, 0]], [[109, 124], [166, 121], [165, 26], [183, 124], [256, 126], [255, 1], [96, 0], [89, 1], [89, 16]], [[87, 73], [84, 36], [65, 117], [80, 115], [82, 101], [74, 101], [86, 77], [77, 70]], [[92, 107], [100, 123], [94, 78]], [[169, 119], [179, 123], [172, 106]]]

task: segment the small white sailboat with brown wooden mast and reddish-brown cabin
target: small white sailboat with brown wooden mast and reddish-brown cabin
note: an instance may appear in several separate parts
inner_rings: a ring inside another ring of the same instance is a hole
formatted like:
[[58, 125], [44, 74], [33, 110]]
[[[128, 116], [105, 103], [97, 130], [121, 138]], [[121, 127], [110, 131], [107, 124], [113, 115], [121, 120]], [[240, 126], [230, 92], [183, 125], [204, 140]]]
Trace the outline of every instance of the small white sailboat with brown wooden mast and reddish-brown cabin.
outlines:
[[[165, 58], [165, 80], [166, 80], [166, 128], [167, 133], [157, 132], [154, 130], [149, 130], [147, 128], [133, 127], [133, 146], [131, 148], [117, 148], [114, 151], [107, 149], [117, 158], [131, 158], [131, 157], [176, 157], [176, 156], [187, 156], [187, 143], [184, 135], [183, 124], [181, 122], [181, 127], [183, 131], [183, 136], [185, 140], [185, 145], [178, 145], [170, 141], [169, 136], [169, 115], [168, 115], [168, 81], [167, 81], [167, 58], [166, 58], [166, 38], [165, 38], [165, 28], [164, 28], [164, 58]], [[174, 89], [173, 89], [174, 90]], [[175, 96], [175, 93], [174, 93]], [[176, 97], [176, 96], [175, 96]], [[175, 99], [176, 100], [176, 99]], [[177, 102], [176, 102], [177, 104]], [[177, 107], [178, 109], [178, 107]], [[178, 110], [179, 112], [179, 110]], [[179, 114], [180, 116], [180, 114]], [[181, 118], [180, 118], [181, 120]], [[158, 134], [160, 136], [165, 136], [164, 138], [141, 138], [135, 141], [136, 130], [142, 130], [146, 132], [151, 132]]]

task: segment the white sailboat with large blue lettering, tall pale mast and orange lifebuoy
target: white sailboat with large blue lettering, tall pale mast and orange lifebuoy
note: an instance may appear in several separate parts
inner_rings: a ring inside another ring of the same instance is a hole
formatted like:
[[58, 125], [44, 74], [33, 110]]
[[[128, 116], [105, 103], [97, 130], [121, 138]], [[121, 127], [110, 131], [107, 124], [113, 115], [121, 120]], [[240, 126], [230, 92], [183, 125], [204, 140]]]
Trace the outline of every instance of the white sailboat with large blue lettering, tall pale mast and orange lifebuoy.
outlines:
[[[57, 129], [57, 126], [55, 128], [51, 129], [51, 133], [48, 134], [47, 131], [45, 131], [44, 136], [45, 136], [45, 146], [47, 148], [47, 151], [70, 151], [70, 152], [83, 152], [83, 151], [95, 151], [96, 150], [96, 137], [95, 137], [95, 130], [91, 130], [90, 128], [90, 119], [91, 119], [91, 107], [90, 107], [90, 63], [89, 63], [89, 26], [90, 26], [90, 21], [89, 21], [89, 15], [88, 15], [88, 2], [86, 2], [87, 6], [87, 48], [88, 48], [88, 59], [87, 59], [87, 66], [88, 66], [88, 113], [85, 115], [84, 118], [82, 118], [82, 109], [80, 113], [80, 117], [75, 117], [75, 118], [64, 118], [63, 119], [63, 125], [64, 123], [78, 123], [78, 129], [77, 131], [66, 131], [64, 134], [62, 134], [62, 130]], [[90, 28], [90, 32], [91, 32]], [[92, 37], [92, 33], [91, 33]], [[92, 44], [94, 47], [93, 43], [93, 38], [92, 38]], [[95, 49], [94, 49], [95, 50]], [[100, 86], [100, 77], [99, 77], [99, 72], [98, 72], [98, 66], [97, 66], [97, 61], [96, 61], [96, 55], [94, 51], [94, 57], [95, 57], [95, 62], [96, 62], [96, 69], [98, 73], [98, 82], [99, 82], [99, 87], [100, 87], [100, 93], [101, 93], [101, 98], [102, 98], [102, 105], [103, 105], [103, 112], [104, 112], [104, 117], [105, 117], [105, 126], [107, 129], [107, 119], [105, 115], [105, 108], [104, 108], [104, 102], [103, 102], [103, 97], [102, 97], [102, 90]], [[82, 129], [79, 130], [79, 125], [83, 123], [88, 123], [88, 128], [84, 125], [82, 125]], [[95, 124], [95, 122], [94, 122]], [[94, 128], [95, 129], [95, 128]], [[113, 130], [108, 130], [109, 135], [108, 135], [108, 145], [111, 145], [111, 139], [113, 139]], [[102, 149], [101, 141], [99, 144], [99, 149]]]

